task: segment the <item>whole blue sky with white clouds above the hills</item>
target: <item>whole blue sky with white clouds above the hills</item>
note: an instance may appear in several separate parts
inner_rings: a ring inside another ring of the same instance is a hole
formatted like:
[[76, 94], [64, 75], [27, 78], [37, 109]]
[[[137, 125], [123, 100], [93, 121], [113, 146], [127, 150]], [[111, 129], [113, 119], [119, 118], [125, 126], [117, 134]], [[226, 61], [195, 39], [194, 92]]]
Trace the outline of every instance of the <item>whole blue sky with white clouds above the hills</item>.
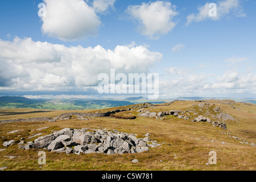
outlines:
[[[42, 2], [45, 18], [38, 16]], [[216, 3], [216, 18], [203, 11], [208, 3]], [[160, 98], [255, 98], [255, 5], [253, 0], [1, 1], [0, 95], [101, 97], [97, 75], [115, 68], [159, 73]]]

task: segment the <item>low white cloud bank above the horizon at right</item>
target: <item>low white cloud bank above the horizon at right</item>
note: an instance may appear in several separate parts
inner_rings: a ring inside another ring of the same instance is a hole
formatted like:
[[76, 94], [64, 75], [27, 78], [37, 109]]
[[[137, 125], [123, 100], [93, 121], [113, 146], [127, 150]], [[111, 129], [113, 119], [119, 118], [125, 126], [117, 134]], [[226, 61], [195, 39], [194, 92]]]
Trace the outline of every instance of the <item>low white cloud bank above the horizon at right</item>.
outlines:
[[159, 82], [161, 93], [175, 96], [213, 96], [230, 93], [255, 93], [256, 73], [227, 71], [221, 76], [214, 73], [191, 72], [185, 68], [166, 68], [168, 77]]

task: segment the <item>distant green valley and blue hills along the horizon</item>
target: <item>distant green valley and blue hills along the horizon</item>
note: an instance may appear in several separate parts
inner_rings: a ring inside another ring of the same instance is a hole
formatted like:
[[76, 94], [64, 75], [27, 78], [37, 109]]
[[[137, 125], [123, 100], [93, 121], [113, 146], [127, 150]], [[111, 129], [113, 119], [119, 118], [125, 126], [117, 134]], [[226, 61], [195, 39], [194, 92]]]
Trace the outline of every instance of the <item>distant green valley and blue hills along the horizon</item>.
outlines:
[[105, 109], [109, 107], [125, 106], [150, 102], [151, 104], [162, 104], [174, 100], [234, 100], [238, 102], [249, 102], [256, 104], [255, 98], [235, 99], [235, 98], [207, 98], [207, 97], [178, 97], [178, 98], [159, 98], [158, 100], [147, 100], [144, 97], [128, 97], [123, 100], [109, 99], [29, 99], [26, 97], [2, 96], [0, 97], [0, 109], [52, 109], [52, 110], [86, 110], [86, 109]]

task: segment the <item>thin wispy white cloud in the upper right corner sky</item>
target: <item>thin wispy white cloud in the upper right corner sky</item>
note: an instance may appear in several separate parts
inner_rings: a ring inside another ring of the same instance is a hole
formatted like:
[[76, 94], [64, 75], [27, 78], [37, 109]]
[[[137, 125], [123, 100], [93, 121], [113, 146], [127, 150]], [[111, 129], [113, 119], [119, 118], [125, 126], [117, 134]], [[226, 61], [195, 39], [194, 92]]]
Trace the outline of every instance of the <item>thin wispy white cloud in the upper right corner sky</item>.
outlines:
[[209, 3], [198, 7], [199, 13], [190, 14], [187, 16], [187, 25], [192, 22], [201, 22], [205, 19], [219, 20], [221, 17], [228, 15], [230, 12], [235, 13], [236, 16], [245, 16], [242, 13], [240, 0], [224, 0], [217, 5], [217, 16], [209, 16]]

